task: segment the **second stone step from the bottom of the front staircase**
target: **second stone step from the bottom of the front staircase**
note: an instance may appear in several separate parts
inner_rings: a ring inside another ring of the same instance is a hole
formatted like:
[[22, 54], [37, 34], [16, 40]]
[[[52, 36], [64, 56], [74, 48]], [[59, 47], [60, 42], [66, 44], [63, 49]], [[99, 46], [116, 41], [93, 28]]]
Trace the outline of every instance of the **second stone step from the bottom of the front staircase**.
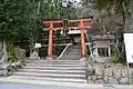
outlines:
[[71, 79], [85, 79], [85, 75], [68, 75], [68, 73], [38, 73], [38, 72], [13, 72], [13, 76], [22, 77], [42, 77], [42, 78], [71, 78]]

